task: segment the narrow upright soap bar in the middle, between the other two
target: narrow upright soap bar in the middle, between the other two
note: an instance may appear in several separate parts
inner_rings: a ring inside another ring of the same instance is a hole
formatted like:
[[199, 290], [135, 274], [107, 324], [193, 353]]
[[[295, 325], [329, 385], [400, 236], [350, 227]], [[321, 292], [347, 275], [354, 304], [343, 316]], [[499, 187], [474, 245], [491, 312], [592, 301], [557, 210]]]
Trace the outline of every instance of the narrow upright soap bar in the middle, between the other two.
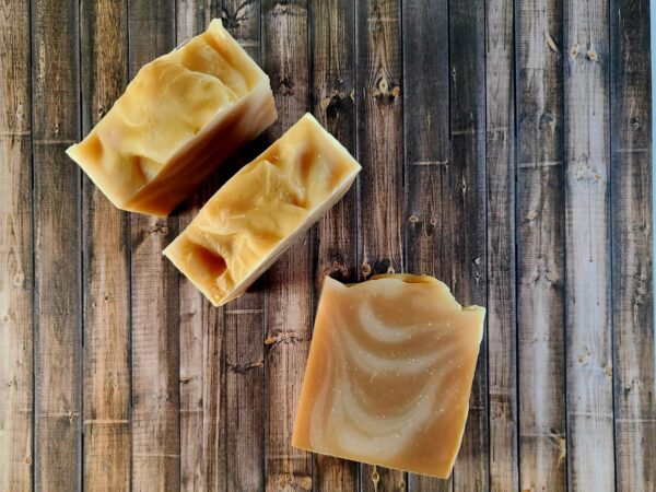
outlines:
[[223, 185], [164, 255], [223, 305], [328, 211], [360, 168], [307, 114]]

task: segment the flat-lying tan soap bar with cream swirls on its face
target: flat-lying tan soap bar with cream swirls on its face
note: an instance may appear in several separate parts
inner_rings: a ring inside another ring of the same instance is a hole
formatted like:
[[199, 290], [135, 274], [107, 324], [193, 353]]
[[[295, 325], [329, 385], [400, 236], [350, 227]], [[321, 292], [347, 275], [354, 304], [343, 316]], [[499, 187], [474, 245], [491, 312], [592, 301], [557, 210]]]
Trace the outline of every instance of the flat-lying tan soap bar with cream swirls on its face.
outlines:
[[293, 446], [447, 478], [484, 316], [433, 277], [387, 274], [353, 285], [327, 277]]

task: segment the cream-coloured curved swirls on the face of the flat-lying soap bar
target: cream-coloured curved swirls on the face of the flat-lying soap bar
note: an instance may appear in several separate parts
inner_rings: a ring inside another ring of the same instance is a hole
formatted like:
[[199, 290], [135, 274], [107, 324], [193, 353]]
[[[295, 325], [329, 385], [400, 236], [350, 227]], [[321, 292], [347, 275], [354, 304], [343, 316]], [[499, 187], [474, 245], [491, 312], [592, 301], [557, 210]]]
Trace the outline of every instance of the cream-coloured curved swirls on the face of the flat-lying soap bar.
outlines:
[[[337, 395], [333, 396], [335, 401], [332, 411], [328, 415], [327, 426], [332, 429], [340, 446], [349, 453], [368, 459], [375, 459], [380, 453], [394, 456], [408, 447], [418, 429], [422, 429], [434, 417], [433, 402], [437, 398], [441, 379], [421, 377], [422, 373], [443, 372], [448, 358], [453, 358], [457, 351], [457, 345], [449, 345], [445, 351], [431, 351], [417, 358], [389, 356], [389, 353], [394, 353], [395, 347], [400, 352], [401, 343], [430, 330], [435, 331], [434, 327], [427, 324], [389, 325], [374, 313], [371, 302], [362, 304], [359, 315], [359, 329], [368, 337], [383, 341], [386, 347], [374, 352], [371, 351], [371, 347], [360, 343], [350, 330], [341, 330], [339, 333], [332, 330], [332, 347], [339, 348], [335, 353], [338, 363], [331, 367], [337, 372], [335, 379], [349, 380], [348, 367], [356, 366], [362, 374], [370, 376], [370, 382], [376, 377], [412, 377], [423, 379], [423, 384], [415, 385], [411, 397], [395, 406], [393, 414], [380, 417], [378, 413], [367, 411], [371, 397], [367, 395], [366, 384], [353, 390], [352, 383], [341, 383], [335, 388]], [[448, 401], [442, 403], [446, 405]], [[342, 424], [344, 419], [350, 425]]]

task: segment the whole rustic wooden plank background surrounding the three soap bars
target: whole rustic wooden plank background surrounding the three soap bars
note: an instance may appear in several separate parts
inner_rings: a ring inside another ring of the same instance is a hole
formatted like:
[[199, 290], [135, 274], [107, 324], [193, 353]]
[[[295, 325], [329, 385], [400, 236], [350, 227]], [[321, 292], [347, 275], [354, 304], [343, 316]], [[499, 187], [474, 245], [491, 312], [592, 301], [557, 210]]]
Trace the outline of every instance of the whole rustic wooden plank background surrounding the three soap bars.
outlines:
[[[432, 273], [487, 305], [448, 481], [656, 490], [648, 0], [1, 0], [0, 491], [371, 491], [292, 449], [323, 276]], [[279, 121], [167, 220], [68, 160], [147, 61], [222, 17]], [[212, 308], [161, 251], [304, 112], [363, 165]]]

